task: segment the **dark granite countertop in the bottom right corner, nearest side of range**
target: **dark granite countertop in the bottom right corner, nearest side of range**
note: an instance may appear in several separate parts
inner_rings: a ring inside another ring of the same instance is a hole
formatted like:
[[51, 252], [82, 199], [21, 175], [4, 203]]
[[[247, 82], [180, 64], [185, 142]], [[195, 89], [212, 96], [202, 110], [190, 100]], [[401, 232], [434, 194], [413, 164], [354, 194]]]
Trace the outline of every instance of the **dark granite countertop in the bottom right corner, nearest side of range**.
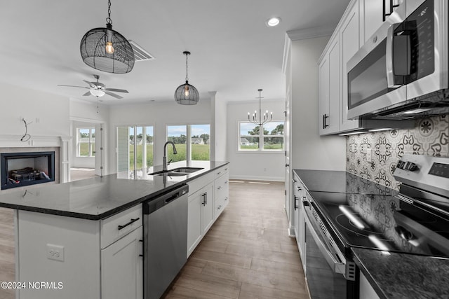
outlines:
[[380, 298], [449, 298], [449, 259], [352, 248]]

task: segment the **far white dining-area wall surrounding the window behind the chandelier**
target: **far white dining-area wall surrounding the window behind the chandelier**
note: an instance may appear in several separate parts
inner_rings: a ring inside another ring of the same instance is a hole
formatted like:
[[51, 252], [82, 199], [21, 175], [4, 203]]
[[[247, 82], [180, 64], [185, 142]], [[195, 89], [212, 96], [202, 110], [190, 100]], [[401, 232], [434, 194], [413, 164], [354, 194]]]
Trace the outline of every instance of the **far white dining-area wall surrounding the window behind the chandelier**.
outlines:
[[[262, 110], [273, 111], [273, 120], [285, 120], [285, 103], [262, 101]], [[263, 181], [284, 180], [284, 152], [239, 152], [239, 121], [248, 120], [248, 112], [259, 109], [259, 100], [229, 102], [227, 105], [227, 156], [232, 179]]]

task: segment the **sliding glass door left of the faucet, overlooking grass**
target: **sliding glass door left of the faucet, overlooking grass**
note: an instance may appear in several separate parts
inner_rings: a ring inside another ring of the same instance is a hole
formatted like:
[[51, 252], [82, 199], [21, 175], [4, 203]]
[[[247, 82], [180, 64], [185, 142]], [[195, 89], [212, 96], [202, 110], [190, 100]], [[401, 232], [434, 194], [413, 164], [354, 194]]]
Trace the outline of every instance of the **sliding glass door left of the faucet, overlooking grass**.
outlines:
[[153, 127], [117, 127], [117, 170], [133, 171], [153, 166]]

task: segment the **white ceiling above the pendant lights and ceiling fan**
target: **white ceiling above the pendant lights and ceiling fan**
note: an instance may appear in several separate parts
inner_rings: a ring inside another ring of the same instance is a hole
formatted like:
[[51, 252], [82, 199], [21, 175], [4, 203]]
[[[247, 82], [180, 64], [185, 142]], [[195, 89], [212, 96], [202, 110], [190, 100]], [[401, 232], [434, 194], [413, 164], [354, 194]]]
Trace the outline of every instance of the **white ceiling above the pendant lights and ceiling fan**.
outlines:
[[[129, 91], [123, 99], [108, 95], [105, 104], [173, 101], [185, 81], [220, 99], [283, 99], [286, 32], [335, 27], [349, 0], [112, 0], [113, 29], [155, 57], [135, 62], [128, 74], [109, 74], [81, 60], [79, 43], [88, 30], [105, 27], [107, 0], [2, 0], [0, 9], [0, 82], [96, 102], [87, 86], [101, 76], [107, 88]], [[265, 21], [279, 16], [274, 28]]]

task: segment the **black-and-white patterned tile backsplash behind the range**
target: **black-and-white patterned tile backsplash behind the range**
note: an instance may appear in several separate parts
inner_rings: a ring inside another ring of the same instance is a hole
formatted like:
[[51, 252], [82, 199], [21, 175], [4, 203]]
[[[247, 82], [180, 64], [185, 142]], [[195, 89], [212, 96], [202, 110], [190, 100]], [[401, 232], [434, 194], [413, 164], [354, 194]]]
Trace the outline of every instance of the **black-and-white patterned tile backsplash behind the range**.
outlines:
[[349, 135], [346, 170], [397, 190], [393, 172], [406, 153], [449, 157], [449, 115], [418, 119], [410, 130]]

